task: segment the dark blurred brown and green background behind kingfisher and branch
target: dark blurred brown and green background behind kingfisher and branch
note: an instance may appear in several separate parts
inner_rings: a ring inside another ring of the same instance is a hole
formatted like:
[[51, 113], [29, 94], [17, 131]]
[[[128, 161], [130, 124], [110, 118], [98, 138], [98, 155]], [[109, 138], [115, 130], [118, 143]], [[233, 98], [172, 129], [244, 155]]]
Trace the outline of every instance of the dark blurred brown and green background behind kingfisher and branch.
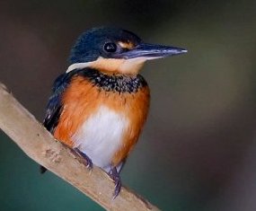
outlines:
[[[123, 182], [163, 210], [256, 210], [255, 0], [2, 0], [0, 24], [0, 81], [39, 120], [69, 49], [91, 27], [188, 48], [142, 71], [151, 110]], [[1, 132], [0, 210], [102, 208], [40, 175]]]

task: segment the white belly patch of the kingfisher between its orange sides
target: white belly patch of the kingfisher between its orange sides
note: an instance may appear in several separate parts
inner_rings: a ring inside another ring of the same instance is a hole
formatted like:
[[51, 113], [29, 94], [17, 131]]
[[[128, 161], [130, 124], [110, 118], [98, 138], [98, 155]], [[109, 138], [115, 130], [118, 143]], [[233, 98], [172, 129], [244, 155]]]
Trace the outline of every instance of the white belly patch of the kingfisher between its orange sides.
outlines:
[[129, 120], [124, 114], [101, 106], [84, 122], [72, 139], [75, 147], [88, 155], [93, 164], [109, 171], [111, 159], [122, 145], [128, 124]]

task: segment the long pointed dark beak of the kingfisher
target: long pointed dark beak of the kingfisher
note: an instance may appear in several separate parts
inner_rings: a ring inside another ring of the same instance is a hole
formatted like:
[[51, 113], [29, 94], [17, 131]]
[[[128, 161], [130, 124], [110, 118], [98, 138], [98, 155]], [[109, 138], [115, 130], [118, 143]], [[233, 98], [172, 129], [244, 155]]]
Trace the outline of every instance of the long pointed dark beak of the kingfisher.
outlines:
[[154, 59], [159, 57], [170, 57], [187, 52], [188, 50], [185, 48], [141, 43], [137, 45], [136, 48], [119, 54], [119, 57], [126, 59], [135, 57], [146, 57], [146, 59]]

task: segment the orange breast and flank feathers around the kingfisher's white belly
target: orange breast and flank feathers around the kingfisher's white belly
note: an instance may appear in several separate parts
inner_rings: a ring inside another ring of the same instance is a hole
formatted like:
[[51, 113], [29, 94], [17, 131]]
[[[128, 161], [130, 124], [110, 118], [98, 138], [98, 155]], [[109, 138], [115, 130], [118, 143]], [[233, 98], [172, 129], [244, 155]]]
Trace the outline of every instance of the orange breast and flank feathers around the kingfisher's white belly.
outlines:
[[[149, 108], [149, 89], [141, 87], [137, 92], [106, 92], [93, 85], [83, 76], [75, 76], [63, 95], [63, 111], [60, 115], [54, 136], [61, 142], [75, 146], [73, 136], [86, 119], [99, 110], [101, 106], [107, 107], [117, 113], [124, 114], [129, 120], [121, 145], [113, 154], [111, 164], [117, 166], [125, 159], [133, 146], [146, 121]], [[111, 123], [110, 123], [111, 124]], [[97, 125], [95, 125], [97, 127]], [[101, 131], [99, 131], [101, 133]], [[84, 140], [86, 142], [86, 140]], [[86, 151], [86, 150], [85, 150]], [[86, 152], [84, 152], [86, 154]]]

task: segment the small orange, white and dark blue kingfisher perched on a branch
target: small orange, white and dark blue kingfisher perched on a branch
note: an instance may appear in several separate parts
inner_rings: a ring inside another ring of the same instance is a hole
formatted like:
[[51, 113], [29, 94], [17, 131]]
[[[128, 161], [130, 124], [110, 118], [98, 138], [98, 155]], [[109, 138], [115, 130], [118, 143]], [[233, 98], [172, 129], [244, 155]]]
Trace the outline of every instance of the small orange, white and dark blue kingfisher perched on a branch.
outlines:
[[147, 60], [186, 52], [146, 43], [131, 31], [93, 28], [76, 40], [66, 72], [54, 82], [43, 125], [88, 168], [94, 164], [110, 175], [113, 198], [149, 109], [149, 88], [139, 70]]

